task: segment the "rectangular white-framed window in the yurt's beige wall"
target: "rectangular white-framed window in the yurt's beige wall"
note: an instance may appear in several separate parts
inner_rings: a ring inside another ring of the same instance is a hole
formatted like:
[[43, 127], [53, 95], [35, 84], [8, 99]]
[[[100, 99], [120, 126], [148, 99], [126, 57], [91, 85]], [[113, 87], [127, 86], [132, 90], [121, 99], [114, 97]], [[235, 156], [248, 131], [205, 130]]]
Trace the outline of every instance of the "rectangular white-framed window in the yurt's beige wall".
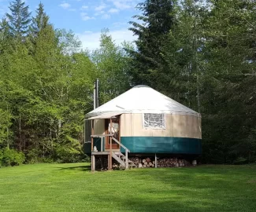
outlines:
[[144, 113], [143, 127], [151, 129], [165, 129], [165, 114]]

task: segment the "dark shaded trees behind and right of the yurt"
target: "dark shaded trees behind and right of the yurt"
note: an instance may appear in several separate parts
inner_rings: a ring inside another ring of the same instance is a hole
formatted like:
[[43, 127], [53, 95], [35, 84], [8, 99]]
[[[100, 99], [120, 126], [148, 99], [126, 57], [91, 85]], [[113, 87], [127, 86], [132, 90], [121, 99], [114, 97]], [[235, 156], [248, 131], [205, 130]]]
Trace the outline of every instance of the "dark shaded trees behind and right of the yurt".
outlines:
[[166, 2], [139, 4], [143, 16], [130, 23], [139, 36], [130, 52], [132, 82], [202, 114], [202, 162], [254, 163], [254, 2]]

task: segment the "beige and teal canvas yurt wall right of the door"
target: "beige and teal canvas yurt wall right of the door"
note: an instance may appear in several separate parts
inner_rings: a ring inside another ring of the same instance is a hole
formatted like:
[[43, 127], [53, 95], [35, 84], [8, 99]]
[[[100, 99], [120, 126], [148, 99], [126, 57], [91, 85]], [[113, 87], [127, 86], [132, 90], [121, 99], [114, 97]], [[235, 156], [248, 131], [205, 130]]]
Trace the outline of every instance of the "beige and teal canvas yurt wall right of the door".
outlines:
[[121, 143], [133, 153], [201, 154], [201, 118], [164, 114], [162, 129], [145, 127], [144, 114], [121, 115]]

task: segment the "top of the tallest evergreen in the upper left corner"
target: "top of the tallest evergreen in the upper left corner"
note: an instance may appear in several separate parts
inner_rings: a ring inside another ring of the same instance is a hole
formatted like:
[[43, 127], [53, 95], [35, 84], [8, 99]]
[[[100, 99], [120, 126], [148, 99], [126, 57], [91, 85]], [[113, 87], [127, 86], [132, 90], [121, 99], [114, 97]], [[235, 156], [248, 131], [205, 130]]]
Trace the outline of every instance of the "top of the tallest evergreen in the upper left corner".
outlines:
[[31, 22], [31, 13], [28, 12], [28, 5], [25, 5], [22, 0], [15, 0], [10, 2], [9, 9], [11, 13], [6, 13], [9, 30], [14, 37], [22, 38], [28, 34]]

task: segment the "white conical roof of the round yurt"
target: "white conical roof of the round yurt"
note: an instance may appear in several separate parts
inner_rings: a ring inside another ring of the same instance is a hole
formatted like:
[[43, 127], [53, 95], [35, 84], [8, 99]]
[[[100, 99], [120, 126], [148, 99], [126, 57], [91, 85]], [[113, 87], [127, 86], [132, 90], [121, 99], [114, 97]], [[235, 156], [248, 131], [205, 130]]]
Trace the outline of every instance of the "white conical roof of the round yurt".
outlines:
[[198, 112], [166, 97], [149, 86], [135, 86], [87, 113], [86, 118], [108, 119], [122, 113], [168, 113], [200, 117]]

